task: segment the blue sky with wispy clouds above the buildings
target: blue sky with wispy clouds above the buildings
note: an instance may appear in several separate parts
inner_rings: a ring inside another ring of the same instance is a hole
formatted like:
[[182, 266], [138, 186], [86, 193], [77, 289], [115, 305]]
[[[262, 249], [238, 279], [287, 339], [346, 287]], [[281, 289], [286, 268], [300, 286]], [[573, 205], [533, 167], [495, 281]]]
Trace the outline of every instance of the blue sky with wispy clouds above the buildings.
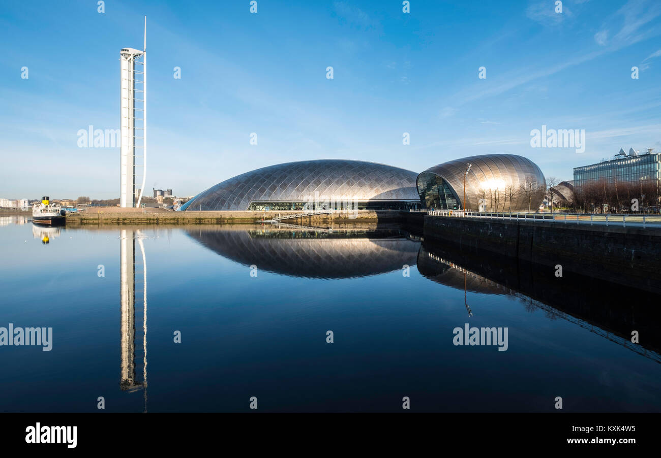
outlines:
[[[118, 128], [119, 50], [141, 48], [144, 15], [147, 189], [194, 195], [293, 160], [421, 172], [494, 152], [570, 180], [621, 147], [661, 150], [658, 0], [565, 0], [563, 13], [555, 0], [249, 8], [107, 0], [101, 14], [95, 0], [0, 0], [0, 197], [119, 197], [119, 148], [79, 148], [77, 133]], [[585, 129], [585, 152], [532, 148], [542, 125]]]

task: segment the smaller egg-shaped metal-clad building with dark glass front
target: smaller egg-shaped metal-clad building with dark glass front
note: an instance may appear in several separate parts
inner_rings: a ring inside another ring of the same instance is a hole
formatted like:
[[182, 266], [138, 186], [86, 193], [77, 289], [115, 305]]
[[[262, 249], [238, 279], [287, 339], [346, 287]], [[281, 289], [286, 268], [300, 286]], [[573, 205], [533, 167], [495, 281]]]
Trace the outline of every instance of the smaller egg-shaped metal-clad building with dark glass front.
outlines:
[[[463, 175], [468, 164], [473, 165], [466, 176], [463, 205]], [[546, 180], [537, 164], [515, 154], [444, 162], [418, 175], [416, 185], [424, 207], [452, 208], [444, 205], [456, 202], [477, 211], [527, 211], [528, 207], [535, 211], [546, 192]]]

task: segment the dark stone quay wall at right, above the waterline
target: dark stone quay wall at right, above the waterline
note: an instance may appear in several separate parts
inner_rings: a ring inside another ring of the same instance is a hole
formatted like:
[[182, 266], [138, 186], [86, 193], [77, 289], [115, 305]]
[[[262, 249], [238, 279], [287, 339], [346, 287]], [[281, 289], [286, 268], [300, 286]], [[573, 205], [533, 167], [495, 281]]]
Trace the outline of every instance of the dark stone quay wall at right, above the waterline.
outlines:
[[424, 216], [423, 234], [425, 240], [543, 265], [549, 275], [561, 265], [563, 277], [575, 273], [661, 292], [658, 228]]

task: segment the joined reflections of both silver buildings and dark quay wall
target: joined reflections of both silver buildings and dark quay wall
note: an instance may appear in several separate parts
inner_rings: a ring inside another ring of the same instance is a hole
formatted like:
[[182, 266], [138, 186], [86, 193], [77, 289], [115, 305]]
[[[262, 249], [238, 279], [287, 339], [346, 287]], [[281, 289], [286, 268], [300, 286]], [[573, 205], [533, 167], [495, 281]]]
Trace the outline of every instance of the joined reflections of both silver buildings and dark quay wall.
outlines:
[[[219, 255], [259, 269], [307, 278], [349, 278], [377, 275], [417, 265], [420, 274], [468, 294], [496, 294], [517, 298], [526, 310], [543, 310], [661, 362], [660, 314], [650, 304], [658, 296], [593, 278], [565, 277], [516, 259], [452, 245], [422, 242], [403, 229], [344, 229], [227, 227], [196, 228], [188, 235]], [[631, 298], [636, 297], [635, 304]], [[475, 305], [475, 304], [474, 304]], [[631, 331], [644, 333], [644, 343], [632, 343]]]

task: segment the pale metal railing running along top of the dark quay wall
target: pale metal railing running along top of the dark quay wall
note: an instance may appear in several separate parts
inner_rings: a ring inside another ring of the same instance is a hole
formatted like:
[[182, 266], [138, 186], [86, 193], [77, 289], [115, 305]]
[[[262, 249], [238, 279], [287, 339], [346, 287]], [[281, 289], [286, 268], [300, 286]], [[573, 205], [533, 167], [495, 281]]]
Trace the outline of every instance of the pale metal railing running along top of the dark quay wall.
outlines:
[[578, 214], [578, 213], [491, 213], [463, 210], [429, 210], [429, 216], [456, 218], [489, 218], [499, 220], [541, 221], [559, 224], [590, 224], [591, 226], [635, 226], [661, 228], [661, 215], [652, 214]]

